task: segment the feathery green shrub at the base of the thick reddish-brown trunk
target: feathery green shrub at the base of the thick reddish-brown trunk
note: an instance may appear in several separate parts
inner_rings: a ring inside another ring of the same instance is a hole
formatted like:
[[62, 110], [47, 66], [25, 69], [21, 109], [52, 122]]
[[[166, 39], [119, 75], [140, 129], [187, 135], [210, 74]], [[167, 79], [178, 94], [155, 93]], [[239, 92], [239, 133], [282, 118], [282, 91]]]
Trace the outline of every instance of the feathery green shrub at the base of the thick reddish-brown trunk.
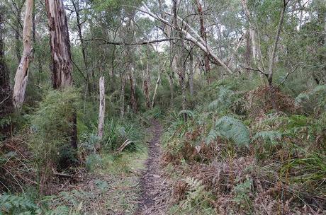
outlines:
[[79, 93], [74, 88], [64, 91], [49, 91], [38, 109], [29, 116], [30, 148], [39, 168], [74, 160], [74, 151], [69, 150], [72, 131], [72, 116], [79, 110]]

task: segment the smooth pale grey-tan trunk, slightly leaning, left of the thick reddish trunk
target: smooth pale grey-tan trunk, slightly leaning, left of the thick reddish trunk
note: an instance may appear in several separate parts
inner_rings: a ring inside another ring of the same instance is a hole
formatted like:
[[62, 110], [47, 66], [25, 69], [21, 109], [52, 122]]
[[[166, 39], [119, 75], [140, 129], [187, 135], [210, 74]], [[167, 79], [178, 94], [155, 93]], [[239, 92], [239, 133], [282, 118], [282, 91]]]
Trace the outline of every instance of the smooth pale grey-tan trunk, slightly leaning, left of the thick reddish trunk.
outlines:
[[33, 0], [26, 1], [26, 13], [24, 19], [23, 28], [23, 56], [21, 62], [18, 66], [15, 76], [15, 85], [13, 86], [13, 105], [16, 110], [19, 110], [23, 105], [25, 100], [25, 92], [28, 81], [28, 68], [30, 64], [30, 57], [32, 52], [32, 41], [31, 41], [31, 31], [32, 31], [32, 16], [33, 12]]

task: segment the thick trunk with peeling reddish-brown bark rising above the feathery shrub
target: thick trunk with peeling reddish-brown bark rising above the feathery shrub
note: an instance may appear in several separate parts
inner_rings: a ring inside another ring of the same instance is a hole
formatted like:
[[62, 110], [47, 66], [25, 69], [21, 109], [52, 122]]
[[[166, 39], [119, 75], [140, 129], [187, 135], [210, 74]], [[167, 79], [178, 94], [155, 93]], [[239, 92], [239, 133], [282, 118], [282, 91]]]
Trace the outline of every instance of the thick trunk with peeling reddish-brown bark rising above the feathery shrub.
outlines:
[[72, 56], [70, 53], [67, 17], [62, 0], [45, 0], [50, 28], [52, 84], [55, 89], [72, 86]]

